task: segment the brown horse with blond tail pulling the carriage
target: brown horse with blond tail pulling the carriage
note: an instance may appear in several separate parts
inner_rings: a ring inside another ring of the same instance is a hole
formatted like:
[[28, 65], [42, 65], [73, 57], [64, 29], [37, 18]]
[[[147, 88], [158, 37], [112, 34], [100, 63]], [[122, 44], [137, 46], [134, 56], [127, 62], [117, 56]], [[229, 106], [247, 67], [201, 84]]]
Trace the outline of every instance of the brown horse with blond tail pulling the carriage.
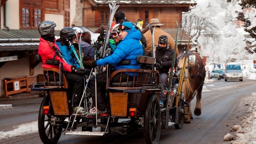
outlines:
[[[195, 67], [190, 67], [186, 69], [186, 73], [188, 74], [188, 78], [184, 80], [182, 91], [185, 91], [185, 100], [189, 103], [189, 115], [185, 115], [185, 123], [190, 123], [190, 119], [193, 119], [193, 115], [191, 112], [190, 102], [193, 100], [196, 94], [196, 107], [194, 110], [194, 114], [196, 116], [201, 115], [202, 105], [200, 103], [202, 97], [202, 89], [204, 85], [205, 78], [205, 68], [204, 62], [202, 58], [196, 52], [189, 52], [189, 55], [196, 56], [196, 64]], [[180, 60], [178, 66], [181, 68], [184, 63], [185, 54], [179, 56]], [[186, 61], [186, 66], [188, 66], [188, 61]], [[188, 108], [185, 107], [185, 113], [188, 113]]]

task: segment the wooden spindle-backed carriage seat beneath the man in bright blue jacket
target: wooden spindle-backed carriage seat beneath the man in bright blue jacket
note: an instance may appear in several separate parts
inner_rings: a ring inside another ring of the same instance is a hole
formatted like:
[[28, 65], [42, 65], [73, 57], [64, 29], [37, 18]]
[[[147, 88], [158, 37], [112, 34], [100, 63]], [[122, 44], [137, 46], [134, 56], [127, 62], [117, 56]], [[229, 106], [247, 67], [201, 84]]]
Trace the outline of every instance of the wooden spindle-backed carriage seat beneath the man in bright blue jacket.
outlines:
[[[138, 56], [136, 61], [141, 64], [141, 68], [148, 64], [154, 64], [155, 58], [147, 56]], [[132, 81], [129, 81], [129, 73], [134, 73]], [[122, 82], [122, 74], [126, 73], [127, 80]], [[153, 79], [152, 74], [155, 74], [155, 79]], [[112, 79], [116, 76], [120, 76], [119, 82], [113, 82]], [[110, 75], [110, 87], [112, 88], [124, 88], [124, 89], [134, 89], [140, 88], [143, 84], [159, 84], [159, 72], [156, 70], [149, 69], [118, 69]]]

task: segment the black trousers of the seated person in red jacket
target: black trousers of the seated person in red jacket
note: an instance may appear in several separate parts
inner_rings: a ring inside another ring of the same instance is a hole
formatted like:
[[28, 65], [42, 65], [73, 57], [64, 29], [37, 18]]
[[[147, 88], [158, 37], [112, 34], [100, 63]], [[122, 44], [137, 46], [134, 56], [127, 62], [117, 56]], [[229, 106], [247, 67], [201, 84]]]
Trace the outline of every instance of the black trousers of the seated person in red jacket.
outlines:
[[[84, 77], [79, 76], [73, 73], [65, 73], [66, 80], [68, 81], [68, 85], [71, 86], [72, 89], [72, 107], [79, 106], [80, 100], [82, 98], [83, 94], [83, 88], [84, 88]], [[54, 80], [53, 72], [49, 72], [50, 81]], [[60, 81], [60, 75], [58, 73], [55, 73], [56, 81]]]

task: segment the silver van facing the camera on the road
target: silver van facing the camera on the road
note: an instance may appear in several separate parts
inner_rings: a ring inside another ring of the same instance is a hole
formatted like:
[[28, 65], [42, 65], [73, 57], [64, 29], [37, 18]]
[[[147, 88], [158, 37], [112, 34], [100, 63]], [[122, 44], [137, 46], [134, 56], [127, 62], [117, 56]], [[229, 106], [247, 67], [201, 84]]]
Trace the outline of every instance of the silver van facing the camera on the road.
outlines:
[[239, 80], [243, 81], [243, 73], [240, 65], [230, 64], [226, 66], [225, 81]]

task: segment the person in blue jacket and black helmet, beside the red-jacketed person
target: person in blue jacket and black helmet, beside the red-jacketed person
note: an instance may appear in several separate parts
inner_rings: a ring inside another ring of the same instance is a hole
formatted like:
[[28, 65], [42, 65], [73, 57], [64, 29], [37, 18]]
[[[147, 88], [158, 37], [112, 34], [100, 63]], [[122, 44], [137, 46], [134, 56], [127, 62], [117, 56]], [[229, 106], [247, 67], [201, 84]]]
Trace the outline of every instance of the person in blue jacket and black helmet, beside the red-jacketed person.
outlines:
[[[75, 30], [71, 27], [62, 28], [60, 30], [60, 38], [56, 40], [56, 44], [60, 48], [60, 52], [63, 58], [69, 65], [74, 65], [76, 68], [81, 68], [76, 60], [74, 52], [71, 50], [68, 41], [72, 42], [73, 38], [76, 36]], [[79, 58], [79, 56], [78, 56]]]

